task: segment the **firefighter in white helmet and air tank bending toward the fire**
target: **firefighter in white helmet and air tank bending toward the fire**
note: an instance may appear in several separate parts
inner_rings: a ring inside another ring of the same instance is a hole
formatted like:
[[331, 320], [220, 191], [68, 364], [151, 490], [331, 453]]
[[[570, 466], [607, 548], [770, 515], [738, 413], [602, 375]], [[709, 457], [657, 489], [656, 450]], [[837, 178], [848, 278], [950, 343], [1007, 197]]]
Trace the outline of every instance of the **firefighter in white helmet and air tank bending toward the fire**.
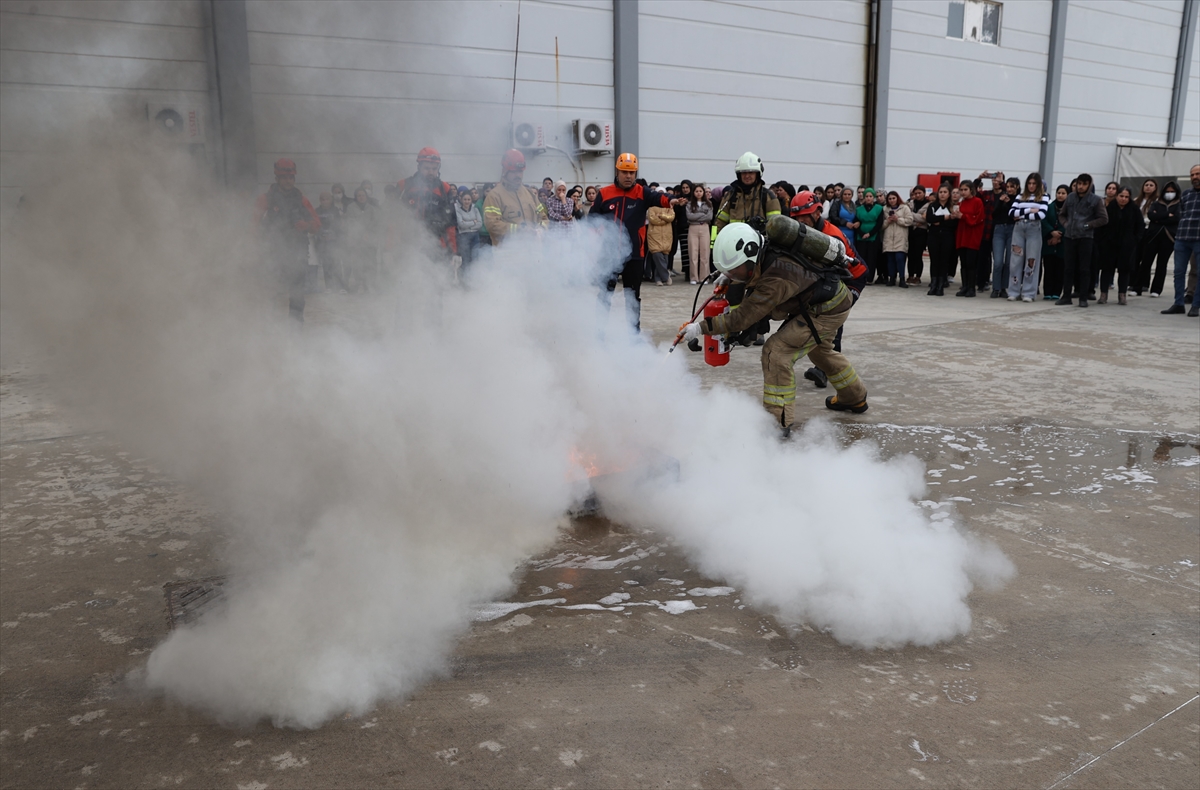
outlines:
[[744, 222], [721, 229], [713, 263], [733, 282], [748, 286], [743, 303], [730, 312], [683, 327], [684, 337], [732, 336], [763, 318], [784, 324], [762, 349], [762, 402], [779, 420], [784, 436], [796, 413], [794, 365], [808, 355], [838, 390], [826, 407], [862, 414], [866, 387], [850, 360], [833, 348], [854, 300], [844, 282], [850, 275], [844, 245], [796, 220], [772, 217], [761, 234]]

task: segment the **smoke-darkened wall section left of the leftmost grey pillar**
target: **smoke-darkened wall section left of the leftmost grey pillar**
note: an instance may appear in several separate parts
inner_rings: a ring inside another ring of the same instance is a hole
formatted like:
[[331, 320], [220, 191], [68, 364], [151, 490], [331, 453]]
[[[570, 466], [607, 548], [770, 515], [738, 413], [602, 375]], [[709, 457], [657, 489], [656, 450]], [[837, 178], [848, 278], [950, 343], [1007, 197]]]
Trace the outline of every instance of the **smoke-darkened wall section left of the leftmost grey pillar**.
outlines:
[[0, 2], [4, 216], [37, 182], [54, 134], [144, 119], [150, 102], [206, 110], [206, 24], [200, 0]]

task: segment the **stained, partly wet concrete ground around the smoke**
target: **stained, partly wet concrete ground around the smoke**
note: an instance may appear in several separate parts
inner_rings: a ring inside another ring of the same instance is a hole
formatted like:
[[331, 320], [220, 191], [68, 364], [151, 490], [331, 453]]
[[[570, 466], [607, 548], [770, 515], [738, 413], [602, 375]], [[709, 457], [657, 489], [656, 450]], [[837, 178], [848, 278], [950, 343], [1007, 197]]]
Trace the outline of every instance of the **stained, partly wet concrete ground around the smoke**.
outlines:
[[[692, 294], [646, 288], [646, 330], [671, 336]], [[968, 635], [866, 652], [786, 633], [666, 540], [586, 517], [449, 676], [304, 732], [122, 683], [167, 633], [163, 585], [222, 571], [215, 520], [5, 360], [0, 786], [1200, 786], [1200, 321], [1130, 303], [871, 287], [852, 313], [870, 411], [840, 418], [846, 441], [916, 454], [930, 507], [1018, 567], [972, 596]], [[310, 327], [352, 311], [317, 295]], [[761, 387], [756, 348], [688, 355]], [[830, 391], [805, 384], [798, 414]], [[563, 608], [618, 591], [658, 605]]]

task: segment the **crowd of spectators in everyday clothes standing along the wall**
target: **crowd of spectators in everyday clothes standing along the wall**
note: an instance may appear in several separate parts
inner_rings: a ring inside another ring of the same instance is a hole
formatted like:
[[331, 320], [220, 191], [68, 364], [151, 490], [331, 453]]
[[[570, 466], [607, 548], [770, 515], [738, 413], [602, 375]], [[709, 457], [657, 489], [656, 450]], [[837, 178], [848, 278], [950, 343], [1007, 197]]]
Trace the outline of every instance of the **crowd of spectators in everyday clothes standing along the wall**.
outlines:
[[[685, 203], [656, 207], [647, 215], [644, 281], [659, 286], [676, 279], [696, 285], [709, 276], [713, 226], [722, 190], [688, 179], [676, 185], [640, 180]], [[404, 182], [384, 190], [384, 205], [398, 199]], [[482, 203], [494, 184], [449, 185], [451, 223], [457, 229], [457, 256], [469, 267], [480, 246], [492, 244]], [[545, 178], [535, 190], [548, 229], [588, 216], [599, 191], [595, 185], [569, 186]], [[974, 180], [943, 181], [936, 191], [914, 186], [907, 198], [870, 186], [827, 184], [770, 185], [780, 207], [798, 192], [811, 192], [821, 214], [850, 241], [868, 268], [868, 285], [910, 288], [928, 286], [928, 295], [944, 295], [958, 281], [955, 295], [1058, 304], [1116, 304], [1134, 295], [1160, 297], [1176, 250], [1177, 226], [1186, 190], [1176, 181], [1147, 179], [1138, 194], [1116, 182], [1097, 193], [1081, 174], [1052, 190], [1031, 173], [1022, 182], [1002, 172]], [[530, 190], [533, 192], [533, 190]], [[334, 184], [319, 196], [320, 231], [314, 249], [324, 285], [342, 292], [370, 289], [379, 276], [380, 214], [371, 181], [348, 194]], [[926, 274], [925, 258], [929, 265]], [[1195, 263], [1187, 273], [1186, 294], [1176, 305], [1195, 301]], [[1075, 301], [1078, 300], [1078, 303]], [[1170, 312], [1178, 312], [1175, 305]], [[1194, 310], [1193, 310], [1194, 312]]]

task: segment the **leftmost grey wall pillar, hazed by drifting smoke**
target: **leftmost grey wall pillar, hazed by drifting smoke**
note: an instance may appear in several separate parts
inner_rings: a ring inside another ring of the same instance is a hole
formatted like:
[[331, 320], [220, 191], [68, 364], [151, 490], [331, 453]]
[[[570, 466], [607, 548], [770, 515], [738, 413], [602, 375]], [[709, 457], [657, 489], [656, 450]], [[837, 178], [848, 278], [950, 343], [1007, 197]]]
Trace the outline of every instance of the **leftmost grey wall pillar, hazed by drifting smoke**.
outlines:
[[250, 36], [246, 32], [246, 0], [210, 0], [212, 53], [216, 60], [216, 92], [223, 176], [227, 187], [258, 186], [254, 148], [254, 98], [250, 90]]

